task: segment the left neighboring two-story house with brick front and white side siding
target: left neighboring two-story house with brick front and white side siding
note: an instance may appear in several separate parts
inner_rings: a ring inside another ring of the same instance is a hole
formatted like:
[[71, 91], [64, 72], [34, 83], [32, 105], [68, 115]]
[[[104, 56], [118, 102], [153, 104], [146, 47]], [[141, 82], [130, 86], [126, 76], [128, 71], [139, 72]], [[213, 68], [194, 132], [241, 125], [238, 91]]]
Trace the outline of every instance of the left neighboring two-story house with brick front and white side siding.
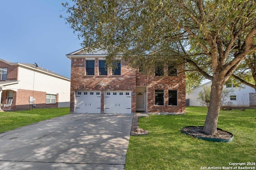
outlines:
[[70, 79], [37, 64], [0, 59], [0, 94], [1, 104], [12, 99], [14, 110], [69, 107]]

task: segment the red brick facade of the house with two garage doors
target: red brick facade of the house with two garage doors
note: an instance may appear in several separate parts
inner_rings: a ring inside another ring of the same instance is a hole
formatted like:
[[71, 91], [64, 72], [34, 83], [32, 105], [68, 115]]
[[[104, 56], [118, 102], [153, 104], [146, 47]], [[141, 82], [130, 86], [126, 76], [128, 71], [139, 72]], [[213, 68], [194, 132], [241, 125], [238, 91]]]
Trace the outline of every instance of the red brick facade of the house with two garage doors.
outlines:
[[[185, 113], [185, 72], [177, 76], [149, 76], [130, 68], [121, 61], [121, 75], [113, 76], [108, 68], [107, 76], [98, 76], [98, 58], [95, 59], [94, 76], [86, 75], [86, 57], [71, 58], [70, 112], [74, 112], [76, 90], [101, 90], [101, 113], [104, 113], [104, 92], [106, 90], [130, 90], [131, 111], [136, 112], [136, 88], [146, 89], [146, 112]], [[178, 68], [180, 72], [183, 68]], [[166, 69], [165, 69], [166, 72]], [[166, 75], [167, 73], [165, 73]], [[101, 86], [100, 82], [104, 85]], [[164, 90], [164, 106], [155, 105], [155, 90]], [[177, 90], [177, 106], [168, 106], [168, 90]]]

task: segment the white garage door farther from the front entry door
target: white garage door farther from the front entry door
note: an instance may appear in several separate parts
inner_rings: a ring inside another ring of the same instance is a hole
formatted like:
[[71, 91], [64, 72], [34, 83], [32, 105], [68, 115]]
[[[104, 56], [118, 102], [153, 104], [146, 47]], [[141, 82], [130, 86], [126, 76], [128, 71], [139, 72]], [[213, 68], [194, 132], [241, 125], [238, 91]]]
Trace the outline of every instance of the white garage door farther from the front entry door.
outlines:
[[76, 113], [100, 113], [100, 91], [76, 91]]

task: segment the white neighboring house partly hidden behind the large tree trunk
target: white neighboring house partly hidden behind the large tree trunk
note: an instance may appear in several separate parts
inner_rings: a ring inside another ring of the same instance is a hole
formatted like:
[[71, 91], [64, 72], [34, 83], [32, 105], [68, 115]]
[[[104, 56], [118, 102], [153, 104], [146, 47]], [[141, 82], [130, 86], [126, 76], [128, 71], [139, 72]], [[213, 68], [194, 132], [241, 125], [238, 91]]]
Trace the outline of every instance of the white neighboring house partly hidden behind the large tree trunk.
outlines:
[[[189, 99], [189, 106], [202, 106], [197, 100], [198, 94], [203, 90], [204, 86], [211, 86], [212, 82], [207, 82], [196, 88], [192, 89], [191, 94], [186, 94], [186, 100]], [[254, 88], [244, 85], [239, 87], [233, 87], [233, 84], [227, 84], [224, 88], [233, 88], [234, 92], [231, 94], [225, 102], [232, 102], [232, 106], [256, 106], [256, 93]]]

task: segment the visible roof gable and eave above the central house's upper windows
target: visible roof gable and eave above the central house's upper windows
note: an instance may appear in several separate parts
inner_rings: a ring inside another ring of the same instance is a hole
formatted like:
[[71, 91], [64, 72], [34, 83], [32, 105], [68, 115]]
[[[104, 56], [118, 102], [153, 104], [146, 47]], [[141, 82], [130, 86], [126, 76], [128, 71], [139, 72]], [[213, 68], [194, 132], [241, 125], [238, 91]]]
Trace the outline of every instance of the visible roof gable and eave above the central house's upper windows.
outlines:
[[86, 53], [85, 49], [79, 49], [77, 51], [74, 51], [72, 53], [69, 53], [66, 55], [66, 57], [68, 57], [69, 59], [71, 58], [78, 58], [78, 57], [106, 57], [107, 56], [107, 51], [104, 50], [100, 50], [100, 49], [96, 49], [94, 52], [92, 53]]

